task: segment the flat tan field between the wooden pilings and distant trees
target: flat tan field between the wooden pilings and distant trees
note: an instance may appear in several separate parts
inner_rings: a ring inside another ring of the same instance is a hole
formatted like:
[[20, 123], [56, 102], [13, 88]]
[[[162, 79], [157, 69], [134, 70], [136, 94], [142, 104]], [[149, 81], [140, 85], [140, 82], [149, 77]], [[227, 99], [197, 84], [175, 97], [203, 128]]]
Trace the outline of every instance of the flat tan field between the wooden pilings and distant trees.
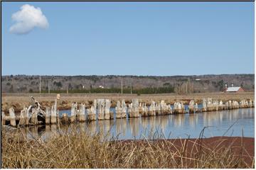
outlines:
[[[56, 94], [1, 94], [1, 108], [3, 111], [8, 111], [9, 108], [14, 107], [15, 111], [21, 111], [23, 106], [28, 106], [31, 101], [31, 96], [36, 98], [42, 106], [51, 106], [56, 98]], [[150, 104], [151, 100], [160, 102], [165, 100], [166, 103], [174, 103], [182, 101], [188, 103], [191, 99], [201, 103], [203, 98], [213, 98], [222, 101], [241, 99], [254, 99], [254, 92], [244, 93], [198, 93], [198, 94], [60, 94], [60, 101], [58, 101], [58, 108], [60, 110], [70, 109], [72, 102], [85, 103], [86, 107], [92, 104], [96, 98], [110, 98], [112, 107], [116, 105], [117, 100], [125, 99], [129, 103], [132, 98], [139, 98], [139, 102]]]

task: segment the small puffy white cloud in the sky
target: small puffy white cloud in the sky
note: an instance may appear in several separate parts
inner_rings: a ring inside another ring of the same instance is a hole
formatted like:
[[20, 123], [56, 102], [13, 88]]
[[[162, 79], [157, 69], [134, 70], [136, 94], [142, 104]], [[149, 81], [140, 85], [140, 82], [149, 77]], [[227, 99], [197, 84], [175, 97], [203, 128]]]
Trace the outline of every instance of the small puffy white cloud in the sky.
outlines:
[[35, 27], [46, 29], [49, 26], [41, 8], [35, 8], [28, 4], [21, 6], [21, 10], [13, 13], [11, 18], [16, 23], [11, 26], [10, 32], [15, 34], [26, 34]]

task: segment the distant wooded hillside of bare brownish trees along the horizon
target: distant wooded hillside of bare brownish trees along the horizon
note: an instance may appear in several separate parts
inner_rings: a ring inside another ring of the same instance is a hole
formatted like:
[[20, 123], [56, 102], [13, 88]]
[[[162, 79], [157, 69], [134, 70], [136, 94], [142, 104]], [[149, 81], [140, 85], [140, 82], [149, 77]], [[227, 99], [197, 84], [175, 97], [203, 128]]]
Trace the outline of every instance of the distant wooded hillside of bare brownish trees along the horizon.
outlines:
[[[254, 74], [220, 74], [220, 75], [200, 75], [200, 76], [41, 76], [41, 91], [48, 91], [48, 84], [51, 91], [73, 91], [79, 92], [105, 92], [100, 89], [115, 89], [112, 92], [121, 90], [121, 81], [123, 82], [124, 93], [129, 93], [136, 89], [152, 89], [152, 91], [161, 92], [216, 92], [223, 91], [225, 83], [230, 86], [242, 86], [245, 91], [254, 91]], [[159, 89], [158, 89], [159, 88]], [[94, 89], [94, 90], [93, 90]], [[165, 90], [163, 90], [165, 89]], [[1, 92], [9, 93], [28, 93], [39, 91], [39, 76], [2, 76]], [[97, 92], [97, 91], [96, 91]], [[146, 90], [144, 91], [145, 93]]]

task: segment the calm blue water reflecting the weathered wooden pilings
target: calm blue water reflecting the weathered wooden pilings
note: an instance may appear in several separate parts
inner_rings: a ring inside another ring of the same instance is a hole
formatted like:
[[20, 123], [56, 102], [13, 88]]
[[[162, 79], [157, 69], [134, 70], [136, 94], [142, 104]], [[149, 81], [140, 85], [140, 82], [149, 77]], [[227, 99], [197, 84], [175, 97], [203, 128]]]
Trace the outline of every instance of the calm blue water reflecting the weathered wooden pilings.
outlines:
[[[67, 113], [67, 111], [63, 111]], [[242, 136], [254, 137], [254, 108], [242, 108], [231, 111], [216, 111], [183, 115], [164, 115], [132, 119], [100, 120], [91, 123], [69, 125], [87, 132], [110, 132], [118, 139], [147, 139], [199, 137], [204, 127], [204, 137]], [[40, 129], [29, 128], [36, 137], [47, 138], [57, 131], [56, 125], [43, 126]], [[157, 132], [157, 133], [156, 133]], [[155, 136], [154, 136], [155, 135]], [[161, 135], [161, 136], [159, 136]]]

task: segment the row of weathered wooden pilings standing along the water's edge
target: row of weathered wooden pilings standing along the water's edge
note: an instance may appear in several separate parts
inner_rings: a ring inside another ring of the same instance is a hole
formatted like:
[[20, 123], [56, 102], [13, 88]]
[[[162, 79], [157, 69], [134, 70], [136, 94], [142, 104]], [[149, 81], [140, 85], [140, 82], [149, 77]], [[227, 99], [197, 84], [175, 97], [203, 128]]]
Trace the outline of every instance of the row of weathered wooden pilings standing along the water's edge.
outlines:
[[[38, 124], [56, 124], [56, 123], [74, 123], [85, 122], [87, 120], [111, 120], [114, 119], [114, 112], [110, 111], [111, 101], [110, 99], [95, 99], [90, 108], [86, 108], [84, 103], [78, 106], [78, 103], [72, 103], [71, 114], [63, 113], [59, 117], [57, 100], [52, 107], [46, 107], [43, 111], [40, 106], [38, 108], [29, 106], [23, 108], [21, 114], [16, 116], [14, 108], [9, 109], [9, 116], [1, 112], [2, 125], [9, 124], [11, 126], [22, 125], [38, 125]], [[198, 103], [191, 100], [188, 104], [188, 113], [208, 112], [208, 111], [223, 111], [232, 110], [236, 108], [252, 108], [254, 107], [254, 101], [241, 100], [238, 101], [223, 101], [213, 100], [212, 98], [203, 98], [202, 106], [199, 108]], [[125, 103], [117, 101], [115, 107], [115, 118], [138, 118], [146, 116], [157, 115], [169, 115], [169, 114], [183, 114], [187, 113], [185, 106], [181, 102], [175, 102], [173, 107], [171, 104], [165, 103], [161, 100], [160, 103], [151, 101], [149, 106], [146, 103], [139, 103], [139, 99], [134, 98], [132, 102]], [[9, 121], [9, 123], [6, 123]], [[17, 123], [18, 122], [18, 123]]]

